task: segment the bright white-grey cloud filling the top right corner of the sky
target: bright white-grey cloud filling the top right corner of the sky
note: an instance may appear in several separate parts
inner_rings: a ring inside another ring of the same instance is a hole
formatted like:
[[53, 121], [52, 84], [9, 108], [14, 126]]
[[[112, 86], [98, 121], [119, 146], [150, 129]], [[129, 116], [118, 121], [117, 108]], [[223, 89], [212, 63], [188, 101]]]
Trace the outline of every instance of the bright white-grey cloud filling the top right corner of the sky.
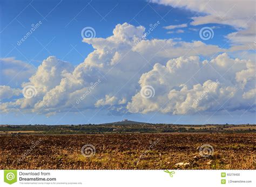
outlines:
[[200, 1], [200, 3], [197, 0], [151, 0], [150, 2], [204, 13], [204, 16], [192, 17], [193, 21], [190, 24], [194, 26], [203, 24], [231, 25], [238, 30], [238, 32], [227, 35], [227, 38], [230, 39], [232, 43], [252, 45], [253, 41], [255, 40], [256, 2], [253, 0], [203, 0]]

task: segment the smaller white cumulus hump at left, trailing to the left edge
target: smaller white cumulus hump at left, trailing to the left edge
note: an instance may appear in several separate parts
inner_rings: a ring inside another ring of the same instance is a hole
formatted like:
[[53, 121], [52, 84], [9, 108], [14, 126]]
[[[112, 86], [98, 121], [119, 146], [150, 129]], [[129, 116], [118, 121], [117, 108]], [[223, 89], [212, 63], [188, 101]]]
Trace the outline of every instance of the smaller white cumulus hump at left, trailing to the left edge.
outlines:
[[36, 73], [29, 78], [29, 82], [23, 82], [21, 85], [22, 88], [31, 85], [37, 92], [36, 97], [30, 99], [21, 97], [11, 102], [2, 103], [1, 109], [8, 111], [18, 107], [25, 111], [29, 110], [29, 112], [35, 110], [38, 103], [41, 103], [44, 97], [48, 97], [48, 92], [59, 85], [62, 78], [68, 76], [72, 71], [73, 66], [70, 63], [58, 60], [55, 56], [49, 56], [38, 67]]

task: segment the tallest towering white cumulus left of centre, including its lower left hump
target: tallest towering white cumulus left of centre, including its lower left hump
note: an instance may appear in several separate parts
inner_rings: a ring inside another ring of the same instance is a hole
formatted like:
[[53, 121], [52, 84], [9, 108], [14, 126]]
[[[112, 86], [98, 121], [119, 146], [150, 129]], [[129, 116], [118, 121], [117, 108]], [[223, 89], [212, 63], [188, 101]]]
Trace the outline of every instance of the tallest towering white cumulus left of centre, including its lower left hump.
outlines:
[[[63, 69], [56, 68], [55, 64], [59, 60], [56, 57], [49, 57], [45, 61], [47, 63], [43, 62], [43, 67], [38, 68], [36, 76], [31, 77], [30, 82], [26, 83], [26, 85], [35, 85], [38, 90], [37, 98], [33, 98], [37, 102], [30, 103], [29, 106], [33, 104], [32, 110], [38, 113], [64, 112], [72, 108], [71, 112], [77, 109], [95, 109], [95, 106], [111, 104], [111, 99], [105, 98], [105, 95], [117, 98], [115, 94], [120, 100], [117, 104], [124, 105], [124, 98], [131, 97], [136, 85], [138, 86], [137, 80], [140, 74], [134, 74], [138, 71], [138, 67], [143, 67], [145, 64], [142, 56], [131, 50], [143, 36], [144, 30], [142, 26], [118, 24], [109, 38], [84, 40], [91, 44], [95, 51], [74, 69], [66, 62], [59, 64]], [[49, 82], [53, 80], [51, 76], [56, 76], [56, 81]], [[40, 81], [42, 78], [44, 81]], [[91, 85], [98, 80], [100, 82], [97, 87], [89, 91]], [[129, 80], [131, 85], [124, 87]], [[76, 104], [77, 99], [83, 95], [86, 97]], [[73, 107], [74, 105], [77, 109]]]

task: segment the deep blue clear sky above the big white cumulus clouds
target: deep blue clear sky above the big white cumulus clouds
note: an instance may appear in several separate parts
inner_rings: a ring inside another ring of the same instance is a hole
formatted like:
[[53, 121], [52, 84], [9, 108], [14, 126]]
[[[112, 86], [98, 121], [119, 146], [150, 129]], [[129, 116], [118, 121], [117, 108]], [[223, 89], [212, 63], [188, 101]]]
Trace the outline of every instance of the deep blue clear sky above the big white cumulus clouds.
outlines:
[[[2, 28], [9, 25], [9, 23], [16, 18], [17, 13], [21, 12], [30, 4], [30, 1], [1, 2]], [[1, 49], [1, 56], [15, 56], [16, 59], [23, 61], [29, 60], [35, 64], [35, 66], [38, 66], [46, 56], [55, 55], [60, 59], [64, 57], [63, 60], [78, 64], [84, 60], [87, 54], [92, 52], [92, 47], [83, 44], [82, 37], [80, 36], [80, 31], [85, 26], [95, 28], [97, 37], [106, 38], [112, 35], [113, 28], [119, 23], [127, 22], [132, 25], [143, 25], [146, 28], [149, 28], [150, 24], [160, 21], [161, 27], [163, 27], [190, 23], [191, 17], [203, 14], [184, 9], [171, 10], [172, 8], [169, 6], [153, 3], [147, 5], [147, 2], [142, 0], [75, 2], [76, 3], [73, 3], [72, 1], [33, 1], [31, 3], [33, 7], [29, 5], [28, 8], [17, 17], [18, 21], [15, 19], [8, 28], [1, 33], [2, 46], [4, 45]], [[89, 2], [91, 2], [90, 4], [93, 8], [90, 5], [87, 5]], [[58, 6], [55, 8], [56, 5]], [[53, 8], [55, 9], [52, 10]], [[48, 14], [49, 12], [50, 14]], [[45, 16], [47, 17], [44, 19]], [[106, 17], [103, 19], [102, 16]], [[43, 23], [40, 29], [34, 32], [32, 37], [29, 37], [22, 46], [18, 47], [19, 51], [24, 55], [17, 50], [9, 53], [14, 46], [17, 45], [17, 41], [30, 30], [31, 24], [36, 24], [39, 20]], [[217, 24], [207, 25], [213, 26]], [[226, 43], [224, 35], [234, 31], [230, 26], [219, 25], [219, 27], [220, 28], [214, 32], [215, 39], [206, 41], [208, 44], [223, 46]], [[198, 29], [200, 26], [192, 26], [192, 28]], [[164, 28], [158, 28], [152, 35], [150, 35], [150, 37], [159, 39], [182, 37], [184, 41], [200, 39], [198, 32], [189, 31], [187, 28], [184, 30], [187, 32], [181, 34], [167, 34]], [[43, 46], [47, 45], [52, 40], [46, 47], [50, 53], [44, 49], [35, 57], [35, 55], [42, 49], [42, 45], [39, 44], [37, 40], [41, 42]], [[72, 49], [71, 45], [76, 46], [77, 50], [80, 53], [83, 53], [83, 56], [79, 55], [75, 50], [70, 52]], [[229, 44], [225, 47], [228, 46]], [[69, 55], [66, 55], [68, 52], [70, 52]], [[35, 59], [33, 59], [33, 57], [35, 57]]]

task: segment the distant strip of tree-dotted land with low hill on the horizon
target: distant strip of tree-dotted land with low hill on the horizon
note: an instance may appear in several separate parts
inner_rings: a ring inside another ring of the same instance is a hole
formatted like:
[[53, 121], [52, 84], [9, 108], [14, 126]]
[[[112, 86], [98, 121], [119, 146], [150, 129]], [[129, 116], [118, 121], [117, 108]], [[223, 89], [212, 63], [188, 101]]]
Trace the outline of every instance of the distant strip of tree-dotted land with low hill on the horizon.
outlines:
[[0, 125], [0, 136], [16, 134], [256, 133], [256, 125], [149, 124], [123, 120], [84, 125]]

